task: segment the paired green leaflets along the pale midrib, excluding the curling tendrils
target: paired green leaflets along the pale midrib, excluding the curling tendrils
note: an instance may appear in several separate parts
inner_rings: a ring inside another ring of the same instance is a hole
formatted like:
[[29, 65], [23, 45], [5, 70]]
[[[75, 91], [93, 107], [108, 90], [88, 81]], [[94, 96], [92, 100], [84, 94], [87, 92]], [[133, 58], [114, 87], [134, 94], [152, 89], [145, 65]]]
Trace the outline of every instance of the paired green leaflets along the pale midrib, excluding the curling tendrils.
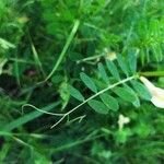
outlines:
[[[118, 97], [120, 97], [124, 102], [133, 104], [134, 107], [140, 106], [140, 101], [139, 101], [138, 96], [150, 101], [151, 94], [149, 93], [148, 89], [143, 84], [141, 84], [140, 82], [137, 81], [136, 52], [130, 52], [130, 58], [132, 58], [136, 61], [126, 62], [125, 58], [121, 55], [117, 55], [117, 62], [118, 62], [118, 66], [120, 67], [120, 69], [117, 69], [114, 61], [106, 60], [106, 65], [107, 65], [109, 72], [112, 73], [110, 74], [112, 77], [107, 75], [103, 63], [102, 62], [98, 63], [98, 72], [99, 72], [102, 79], [104, 80], [104, 82], [107, 83], [107, 86], [102, 90], [99, 89], [99, 92], [97, 92], [97, 86], [95, 85], [94, 80], [92, 80], [92, 78], [90, 78], [84, 72], [82, 72], [80, 74], [81, 80], [84, 82], [84, 84], [91, 91], [95, 92], [95, 94], [84, 101], [81, 93], [77, 89], [71, 86], [73, 90], [71, 92], [71, 95], [74, 98], [83, 102], [82, 104], [80, 104], [80, 106], [82, 106], [83, 104], [89, 102], [89, 105], [95, 112], [97, 112], [99, 114], [108, 114], [107, 108], [113, 109], [114, 112], [118, 110], [118, 107], [119, 107]], [[129, 59], [129, 61], [131, 59]], [[128, 69], [128, 67], [129, 67], [129, 69]], [[131, 77], [129, 77], [130, 69], [133, 72], [133, 74]], [[121, 74], [121, 75], [126, 74], [127, 78], [121, 80], [119, 74]], [[115, 79], [117, 81], [114, 81], [114, 83], [112, 84], [110, 79]], [[132, 87], [130, 87], [128, 84], [126, 84], [127, 82], [130, 82], [132, 84]], [[122, 85], [122, 86], [118, 86], [118, 85]], [[109, 94], [112, 94], [112, 93], [109, 93], [109, 90], [112, 90], [117, 96], [109, 95]], [[105, 92], [108, 92], [108, 93], [105, 93]], [[104, 105], [102, 104], [102, 102], [93, 99], [93, 98], [97, 97], [98, 95]], [[75, 109], [78, 107], [79, 106], [77, 106]], [[73, 110], [74, 110], [74, 108], [73, 108]], [[104, 110], [104, 113], [103, 113], [103, 110]]]

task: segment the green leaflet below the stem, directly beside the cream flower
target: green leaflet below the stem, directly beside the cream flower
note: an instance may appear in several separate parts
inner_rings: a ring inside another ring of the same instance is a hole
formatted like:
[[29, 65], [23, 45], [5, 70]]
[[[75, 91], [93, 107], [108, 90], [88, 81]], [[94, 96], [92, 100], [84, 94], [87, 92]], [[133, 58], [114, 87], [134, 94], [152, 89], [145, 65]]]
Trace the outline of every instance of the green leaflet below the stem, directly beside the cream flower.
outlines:
[[138, 81], [131, 81], [131, 84], [140, 97], [147, 101], [150, 101], [152, 98], [150, 92], [142, 83]]

